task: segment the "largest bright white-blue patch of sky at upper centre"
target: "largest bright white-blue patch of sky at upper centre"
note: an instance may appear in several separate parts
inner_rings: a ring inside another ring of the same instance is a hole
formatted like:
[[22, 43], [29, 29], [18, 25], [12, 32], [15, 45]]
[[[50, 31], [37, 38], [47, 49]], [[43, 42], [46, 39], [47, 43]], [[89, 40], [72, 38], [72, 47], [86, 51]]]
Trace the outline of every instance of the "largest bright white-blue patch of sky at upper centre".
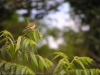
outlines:
[[58, 11], [51, 11], [43, 20], [47, 24], [51, 24], [51, 28], [57, 27], [62, 30], [64, 27], [69, 27], [77, 32], [78, 27], [75, 26], [75, 21], [70, 16], [70, 4], [68, 2], [63, 3], [57, 9]]

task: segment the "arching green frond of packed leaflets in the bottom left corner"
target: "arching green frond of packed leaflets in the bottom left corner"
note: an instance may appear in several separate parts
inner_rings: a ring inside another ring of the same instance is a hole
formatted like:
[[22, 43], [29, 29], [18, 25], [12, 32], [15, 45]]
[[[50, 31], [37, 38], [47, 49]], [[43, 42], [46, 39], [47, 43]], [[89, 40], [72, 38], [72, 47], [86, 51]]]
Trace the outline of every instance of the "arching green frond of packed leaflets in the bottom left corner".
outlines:
[[6, 62], [3, 60], [0, 60], [0, 73], [2, 75], [35, 75], [35, 73], [27, 66]]

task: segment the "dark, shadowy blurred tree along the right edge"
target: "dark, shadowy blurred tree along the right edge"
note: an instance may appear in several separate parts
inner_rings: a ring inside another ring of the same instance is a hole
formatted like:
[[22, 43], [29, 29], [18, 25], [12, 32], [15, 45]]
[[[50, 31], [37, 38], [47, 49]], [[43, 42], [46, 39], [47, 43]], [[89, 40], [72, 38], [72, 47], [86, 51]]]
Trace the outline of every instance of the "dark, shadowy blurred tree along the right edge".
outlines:
[[[68, 1], [76, 15], [82, 19], [82, 25], [89, 25], [90, 29], [84, 33], [84, 50], [87, 50], [98, 63], [100, 59], [100, 1], [99, 0], [66, 0]], [[83, 15], [83, 16], [82, 16]], [[99, 66], [98, 66], [99, 67]]]

